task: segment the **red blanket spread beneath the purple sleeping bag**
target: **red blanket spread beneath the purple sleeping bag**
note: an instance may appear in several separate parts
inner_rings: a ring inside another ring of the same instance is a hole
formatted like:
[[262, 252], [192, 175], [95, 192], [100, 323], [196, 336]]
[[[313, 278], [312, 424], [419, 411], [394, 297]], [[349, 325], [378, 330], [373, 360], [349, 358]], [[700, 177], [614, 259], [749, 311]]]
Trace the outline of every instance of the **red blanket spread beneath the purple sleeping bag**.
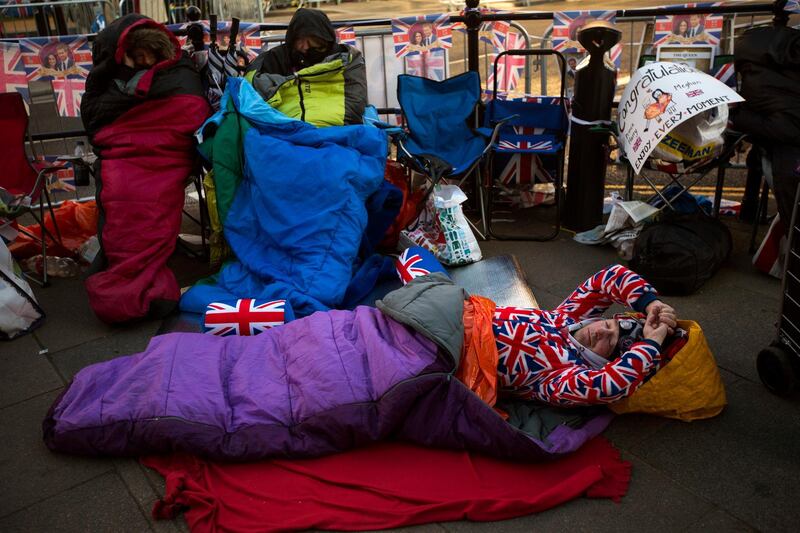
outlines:
[[154, 516], [186, 510], [195, 533], [503, 520], [582, 495], [618, 501], [630, 481], [630, 463], [602, 437], [544, 464], [401, 443], [306, 460], [220, 464], [176, 454], [142, 462], [166, 478]]

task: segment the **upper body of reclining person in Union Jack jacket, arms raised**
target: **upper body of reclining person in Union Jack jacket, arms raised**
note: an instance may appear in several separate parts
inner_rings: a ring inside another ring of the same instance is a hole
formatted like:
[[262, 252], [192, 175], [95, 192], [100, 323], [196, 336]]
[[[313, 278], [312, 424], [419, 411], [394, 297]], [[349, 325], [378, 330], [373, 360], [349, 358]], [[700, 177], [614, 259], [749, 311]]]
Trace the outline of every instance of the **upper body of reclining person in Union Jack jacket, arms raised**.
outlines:
[[[612, 304], [644, 313], [603, 319]], [[675, 310], [622, 265], [601, 270], [552, 311], [497, 307], [493, 329], [501, 392], [551, 405], [611, 403], [665, 362]]]

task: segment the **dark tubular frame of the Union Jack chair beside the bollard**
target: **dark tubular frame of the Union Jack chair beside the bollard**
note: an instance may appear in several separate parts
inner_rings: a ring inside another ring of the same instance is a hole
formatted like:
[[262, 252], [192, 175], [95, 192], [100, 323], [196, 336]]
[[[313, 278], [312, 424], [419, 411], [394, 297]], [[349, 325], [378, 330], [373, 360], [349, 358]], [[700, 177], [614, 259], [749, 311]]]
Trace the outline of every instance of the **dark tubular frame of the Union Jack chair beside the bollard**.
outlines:
[[[564, 109], [565, 116], [569, 117], [569, 112], [567, 110], [566, 99], [564, 96], [564, 89], [566, 86], [566, 72], [567, 72], [567, 62], [564, 59], [564, 56], [558, 52], [557, 50], [546, 49], [546, 50], [505, 50], [497, 55], [494, 61], [494, 86], [492, 87], [492, 100], [497, 99], [497, 80], [498, 80], [498, 65], [499, 61], [503, 56], [506, 55], [515, 55], [515, 56], [548, 56], [552, 55], [555, 56], [558, 64], [559, 70], [561, 72], [561, 88], [559, 93], [560, 98], [560, 105]], [[499, 127], [510, 120], [512, 117], [507, 117], [504, 120], [498, 122], [497, 126], [494, 128], [494, 132], [492, 135], [492, 141], [487, 146], [487, 149], [492, 149], [494, 144], [497, 142]], [[567, 123], [569, 123], [569, 119], [567, 118]], [[497, 233], [492, 229], [492, 197], [493, 191], [495, 189], [494, 186], [494, 168], [493, 168], [493, 160], [494, 160], [494, 150], [491, 150], [491, 153], [488, 157], [488, 162], [486, 165], [486, 176], [485, 180], [483, 181], [483, 194], [481, 198], [481, 206], [483, 207], [484, 204], [488, 206], [488, 213], [484, 214], [484, 227], [486, 229], [486, 234], [494, 239], [497, 240], [512, 240], [512, 241], [549, 241], [556, 238], [561, 231], [561, 203], [564, 195], [564, 150], [566, 149], [566, 137], [567, 134], [564, 134], [564, 138], [561, 141], [564, 143], [564, 147], [562, 150], [558, 152], [556, 157], [556, 176], [555, 176], [555, 207], [556, 207], [556, 224], [553, 228], [551, 233], [548, 233], [543, 236], [516, 236], [516, 235], [502, 235]], [[528, 152], [532, 155], [537, 155], [535, 151]], [[483, 199], [485, 196], [485, 200]]]

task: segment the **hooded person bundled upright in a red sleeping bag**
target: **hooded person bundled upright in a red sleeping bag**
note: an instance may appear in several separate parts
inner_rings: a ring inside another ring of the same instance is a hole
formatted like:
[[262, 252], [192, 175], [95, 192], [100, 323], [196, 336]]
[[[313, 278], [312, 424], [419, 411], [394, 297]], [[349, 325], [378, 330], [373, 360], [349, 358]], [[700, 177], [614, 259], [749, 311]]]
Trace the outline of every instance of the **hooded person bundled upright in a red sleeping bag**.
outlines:
[[97, 34], [81, 118], [95, 163], [101, 249], [86, 290], [108, 323], [171, 312], [194, 132], [210, 114], [200, 76], [165, 26], [138, 14]]

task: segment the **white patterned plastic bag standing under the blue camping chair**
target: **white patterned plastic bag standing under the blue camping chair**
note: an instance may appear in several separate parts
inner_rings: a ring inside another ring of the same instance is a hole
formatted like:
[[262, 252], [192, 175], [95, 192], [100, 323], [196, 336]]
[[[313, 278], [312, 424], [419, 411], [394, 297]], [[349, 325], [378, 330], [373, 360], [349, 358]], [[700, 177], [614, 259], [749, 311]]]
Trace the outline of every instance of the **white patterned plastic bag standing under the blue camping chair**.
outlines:
[[467, 195], [458, 185], [437, 185], [433, 205], [447, 246], [440, 259], [448, 265], [465, 265], [481, 260], [481, 248], [469, 227], [461, 204]]

